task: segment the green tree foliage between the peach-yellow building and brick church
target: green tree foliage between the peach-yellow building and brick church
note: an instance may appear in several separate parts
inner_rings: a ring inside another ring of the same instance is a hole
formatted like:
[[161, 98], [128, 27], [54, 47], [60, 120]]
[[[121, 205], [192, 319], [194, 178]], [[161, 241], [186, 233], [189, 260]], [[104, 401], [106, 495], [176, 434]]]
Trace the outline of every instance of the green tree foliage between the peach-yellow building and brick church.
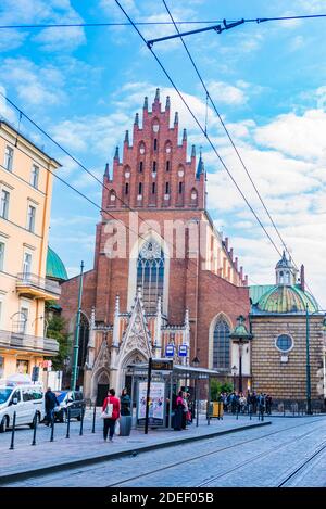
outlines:
[[72, 339], [71, 334], [65, 332], [66, 325], [64, 318], [59, 315], [53, 315], [49, 318], [47, 338], [57, 340], [59, 343], [59, 354], [52, 357], [52, 368], [55, 371], [64, 369], [64, 359], [71, 355]]

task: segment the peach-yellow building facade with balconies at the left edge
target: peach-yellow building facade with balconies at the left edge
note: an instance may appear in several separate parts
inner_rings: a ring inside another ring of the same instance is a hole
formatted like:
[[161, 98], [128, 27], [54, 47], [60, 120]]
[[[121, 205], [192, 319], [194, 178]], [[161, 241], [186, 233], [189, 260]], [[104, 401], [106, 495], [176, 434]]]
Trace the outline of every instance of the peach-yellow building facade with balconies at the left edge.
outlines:
[[58, 352], [45, 338], [45, 302], [60, 295], [46, 279], [51, 173], [59, 166], [0, 122], [0, 378], [32, 374]]

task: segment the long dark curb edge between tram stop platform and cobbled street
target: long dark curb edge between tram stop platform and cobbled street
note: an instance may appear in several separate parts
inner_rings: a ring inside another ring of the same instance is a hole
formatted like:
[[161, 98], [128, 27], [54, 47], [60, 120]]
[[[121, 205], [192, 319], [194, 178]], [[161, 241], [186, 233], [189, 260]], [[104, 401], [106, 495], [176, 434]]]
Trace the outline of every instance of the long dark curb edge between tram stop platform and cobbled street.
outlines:
[[260, 428], [260, 427], [268, 425], [268, 424], [272, 424], [272, 422], [266, 421], [266, 422], [260, 422], [256, 424], [241, 425], [239, 428], [231, 428], [229, 430], [216, 431], [216, 432], [209, 433], [205, 435], [188, 436], [185, 438], [178, 438], [173, 442], [161, 442], [158, 444], [140, 446], [136, 449], [130, 448], [127, 450], [120, 450], [116, 453], [105, 454], [102, 456], [93, 456], [90, 458], [83, 458], [83, 459], [77, 459], [73, 461], [66, 461], [64, 463], [51, 465], [50, 467], [41, 467], [39, 469], [9, 473], [7, 475], [0, 475], [0, 486], [3, 484], [16, 482], [16, 481], [23, 481], [29, 478], [38, 478], [41, 475], [47, 475], [49, 473], [60, 472], [63, 470], [71, 470], [71, 469], [75, 469], [78, 467], [85, 467], [87, 465], [95, 465], [95, 463], [100, 463], [103, 461], [110, 461], [112, 459], [122, 458], [124, 456], [130, 456], [131, 454], [135, 454], [135, 453], [141, 454], [141, 453], [148, 453], [149, 450], [152, 450], [152, 449], [163, 449], [165, 447], [174, 447], [175, 445], [181, 445], [188, 442], [197, 442], [200, 440], [213, 438], [215, 436], [227, 435], [229, 433], [237, 433], [238, 431], [251, 430], [253, 428]]

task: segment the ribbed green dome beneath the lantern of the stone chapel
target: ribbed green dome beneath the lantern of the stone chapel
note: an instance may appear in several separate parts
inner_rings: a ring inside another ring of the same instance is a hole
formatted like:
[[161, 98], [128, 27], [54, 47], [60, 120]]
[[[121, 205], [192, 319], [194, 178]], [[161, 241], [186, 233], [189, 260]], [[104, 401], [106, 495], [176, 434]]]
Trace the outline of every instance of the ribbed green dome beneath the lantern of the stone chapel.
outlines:
[[258, 308], [265, 313], [304, 313], [306, 305], [310, 313], [318, 310], [313, 296], [299, 285], [272, 287], [258, 302]]

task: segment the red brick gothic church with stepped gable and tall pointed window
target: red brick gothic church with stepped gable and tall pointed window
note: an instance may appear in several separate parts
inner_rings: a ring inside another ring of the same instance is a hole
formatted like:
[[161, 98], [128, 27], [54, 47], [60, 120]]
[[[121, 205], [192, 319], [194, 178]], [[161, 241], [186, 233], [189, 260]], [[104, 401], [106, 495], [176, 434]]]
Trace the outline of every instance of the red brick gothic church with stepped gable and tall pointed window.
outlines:
[[[133, 138], [116, 148], [103, 176], [102, 212], [96, 230], [93, 268], [84, 275], [79, 385], [86, 397], [120, 391], [128, 368], [150, 356], [217, 369], [231, 377], [238, 366], [229, 333], [248, 317], [247, 277], [206, 211], [202, 155], [188, 151], [178, 114], [171, 123], [170, 98], [152, 110], [145, 98]], [[190, 156], [190, 157], [189, 157]], [[62, 315], [73, 331], [79, 278], [62, 284]], [[186, 357], [179, 356], [183, 345]], [[243, 389], [250, 348], [242, 358]]]

